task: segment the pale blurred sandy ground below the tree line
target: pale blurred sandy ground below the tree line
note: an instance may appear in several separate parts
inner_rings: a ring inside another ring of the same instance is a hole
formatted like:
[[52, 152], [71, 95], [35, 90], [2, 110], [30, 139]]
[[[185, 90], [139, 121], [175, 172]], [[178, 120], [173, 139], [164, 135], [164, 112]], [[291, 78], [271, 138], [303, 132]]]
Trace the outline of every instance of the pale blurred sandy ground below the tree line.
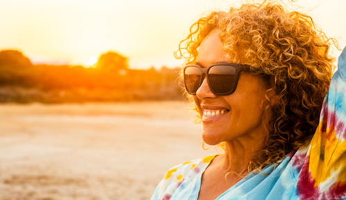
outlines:
[[0, 199], [149, 199], [168, 168], [215, 154], [188, 108], [0, 105]]

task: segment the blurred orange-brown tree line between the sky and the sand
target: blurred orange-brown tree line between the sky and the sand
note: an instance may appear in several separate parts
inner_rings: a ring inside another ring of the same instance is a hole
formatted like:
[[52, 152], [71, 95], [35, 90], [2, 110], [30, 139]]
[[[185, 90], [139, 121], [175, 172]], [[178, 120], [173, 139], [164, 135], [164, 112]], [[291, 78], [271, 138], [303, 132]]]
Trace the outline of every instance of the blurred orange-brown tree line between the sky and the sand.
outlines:
[[93, 68], [31, 63], [18, 50], [0, 51], [0, 102], [63, 103], [183, 99], [179, 68], [130, 69], [127, 57], [102, 54]]

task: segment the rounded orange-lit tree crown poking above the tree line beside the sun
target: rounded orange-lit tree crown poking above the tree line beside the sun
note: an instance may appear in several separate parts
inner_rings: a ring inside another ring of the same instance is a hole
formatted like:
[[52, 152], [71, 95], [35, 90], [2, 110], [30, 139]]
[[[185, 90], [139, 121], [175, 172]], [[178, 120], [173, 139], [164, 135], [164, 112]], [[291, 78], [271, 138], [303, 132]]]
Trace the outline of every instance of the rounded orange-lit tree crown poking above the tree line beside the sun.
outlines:
[[102, 54], [96, 63], [96, 68], [103, 72], [125, 70], [128, 66], [127, 57], [111, 51]]

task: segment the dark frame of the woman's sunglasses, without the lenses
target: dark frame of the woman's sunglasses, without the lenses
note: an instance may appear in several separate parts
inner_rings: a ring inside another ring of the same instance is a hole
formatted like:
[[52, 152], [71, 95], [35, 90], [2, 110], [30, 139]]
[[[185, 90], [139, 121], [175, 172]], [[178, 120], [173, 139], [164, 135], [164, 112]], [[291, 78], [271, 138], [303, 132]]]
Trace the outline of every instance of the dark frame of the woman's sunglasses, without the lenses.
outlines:
[[[223, 93], [219, 93], [219, 92], [215, 92], [215, 90], [210, 86], [210, 80], [209, 80], [209, 71], [212, 67], [215, 66], [230, 66], [235, 68], [235, 83], [233, 84], [233, 88], [232, 90], [228, 91], [228, 92], [223, 92]], [[208, 81], [208, 86], [210, 88], [210, 90], [212, 91], [212, 93], [216, 94], [216, 95], [228, 95], [228, 94], [232, 94], [233, 92], [235, 92], [235, 89], [237, 88], [238, 85], [238, 81], [239, 81], [239, 77], [240, 77], [240, 72], [242, 71], [248, 71], [246, 70], [246, 68], [250, 68], [251, 66], [248, 65], [243, 65], [243, 64], [238, 64], [238, 63], [213, 63], [210, 66], [208, 66], [208, 68], [203, 68], [202, 66], [198, 65], [198, 64], [193, 64], [193, 65], [188, 65], [185, 66], [183, 68], [183, 76], [184, 76], [184, 85], [185, 85], [185, 90], [186, 92], [188, 92], [189, 94], [196, 94], [196, 92], [190, 92], [188, 91], [188, 87], [186, 86], [186, 81], [185, 81], [185, 70], [189, 67], [195, 67], [195, 68], [199, 68], [199, 70], [201, 70], [201, 83], [199, 83], [199, 88], [201, 87], [204, 78], [207, 77], [207, 81]], [[198, 90], [198, 89], [197, 89]]]

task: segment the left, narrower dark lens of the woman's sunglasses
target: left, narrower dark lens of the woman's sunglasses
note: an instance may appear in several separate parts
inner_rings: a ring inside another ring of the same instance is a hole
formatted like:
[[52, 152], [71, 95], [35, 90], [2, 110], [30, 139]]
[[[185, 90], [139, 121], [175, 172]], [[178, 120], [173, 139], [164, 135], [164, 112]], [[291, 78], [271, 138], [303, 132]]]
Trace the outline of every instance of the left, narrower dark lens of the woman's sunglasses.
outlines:
[[189, 93], [197, 92], [199, 86], [201, 86], [202, 76], [201, 70], [197, 67], [191, 66], [185, 68], [184, 81], [186, 90], [188, 90]]

